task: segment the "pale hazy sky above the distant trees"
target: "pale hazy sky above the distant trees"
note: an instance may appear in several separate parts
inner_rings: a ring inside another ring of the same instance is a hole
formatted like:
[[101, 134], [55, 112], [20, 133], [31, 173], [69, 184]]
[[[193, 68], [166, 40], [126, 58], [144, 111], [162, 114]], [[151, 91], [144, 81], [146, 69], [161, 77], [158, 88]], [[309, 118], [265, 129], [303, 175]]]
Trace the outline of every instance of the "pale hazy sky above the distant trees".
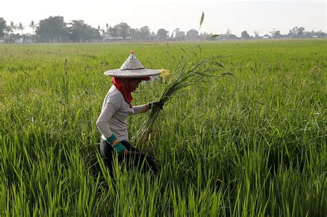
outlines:
[[66, 22], [83, 19], [92, 27], [106, 23], [113, 26], [125, 22], [131, 28], [148, 25], [151, 31], [159, 28], [181, 31], [199, 28], [202, 11], [205, 19], [200, 32], [241, 35], [259, 31], [269, 34], [274, 28], [281, 34], [297, 26], [326, 32], [326, 1], [221, 1], [221, 0], [12, 0], [0, 3], [0, 17], [9, 23], [21, 22], [26, 32], [28, 23], [37, 23], [49, 16], [63, 16]]

